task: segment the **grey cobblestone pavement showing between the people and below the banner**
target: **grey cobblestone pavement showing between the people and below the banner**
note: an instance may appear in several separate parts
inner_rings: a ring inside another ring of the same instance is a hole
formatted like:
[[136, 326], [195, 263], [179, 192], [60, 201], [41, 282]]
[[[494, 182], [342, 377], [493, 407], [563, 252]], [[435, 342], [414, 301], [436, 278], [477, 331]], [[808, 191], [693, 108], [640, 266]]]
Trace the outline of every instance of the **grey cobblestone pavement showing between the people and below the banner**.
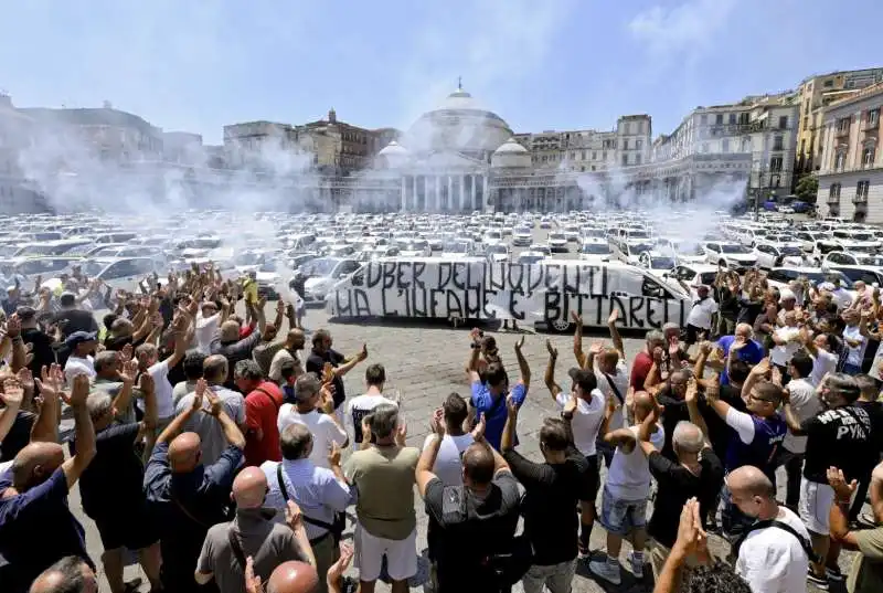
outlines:
[[[270, 305], [273, 306], [273, 304]], [[416, 324], [408, 321], [372, 324], [334, 324], [329, 322], [322, 310], [310, 310], [305, 318], [305, 325], [309, 329], [319, 328], [330, 329], [334, 348], [344, 354], [355, 353], [362, 346], [368, 345], [369, 362], [381, 362], [386, 368], [389, 383], [386, 390], [400, 390], [403, 398], [404, 415], [408, 426], [407, 441], [411, 445], [422, 447], [428, 433], [428, 420], [433, 410], [442, 405], [444, 399], [450, 392], [458, 392], [468, 395], [469, 388], [465, 377], [465, 364], [469, 356], [469, 328], [453, 328], [449, 324], [439, 322], [435, 325]], [[489, 331], [494, 328], [487, 328]], [[532, 379], [528, 399], [524, 403], [522, 413], [519, 415], [519, 438], [521, 445], [519, 451], [531, 458], [539, 459], [540, 452], [538, 445], [538, 431], [542, 419], [546, 415], [556, 413], [554, 402], [549, 391], [543, 384], [543, 372], [547, 361], [545, 340], [551, 339], [552, 343], [558, 349], [557, 377], [561, 380], [566, 378], [566, 370], [573, 366], [572, 336], [558, 335], [534, 335], [526, 331], [524, 343], [524, 354], [531, 366]], [[507, 366], [510, 377], [518, 375], [518, 366], [513, 352], [514, 342], [521, 338], [521, 332], [497, 331], [494, 333], [498, 346]], [[604, 335], [595, 335], [599, 339], [608, 338]], [[593, 339], [589, 335], [587, 342]], [[608, 338], [609, 339], [609, 338]], [[638, 352], [642, 346], [642, 340], [638, 336], [625, 338], [626, 354], [629, 360]], [[363, 392], [364, 367], [361, 364], [345, 377], [345, 386], [349, 398]], [[783, 476], [784, 478], [784, 476]], [[784, 479], [779, 480], [783, 484]], [[783, 493], [784, 498], [784, 493]], [[418, 518], [418, 539], [417, 549], [424, 551], [426, 547], [426, 513], [419, 501], [419, 496], [415, 490], [415, 506]], [[94, 523], [83, 516], [78, 494], [72, 493], [71, 508], [75, 510], [78, 518], [86, 526], [87, 544], [92, 557], [98, 561], [102, 553], [100, 539], [95, 530]], [[352, 525], [348, 532], [351, 532]], [[592, 549], [603, 551], [605, 547], [605, 532], [596, 526], [592, 537]], [[628, 544], [624, 547], [623, 559], [628, 553]], [[726, 553], [726, 547], [716, 537], [712, 538], [712, 550], [720, 557]], [[845, 557], [845, 554], [844, 554]], [[425, 558], [425, 553], [424, 553]], [[652, 575], [649, 565], [645, 570], [645, 578], [637, 581], [626, 569], [624, 562], [623, 584], [613, 586], [607, 583], [597, 583], [588, 572], [587, 561], [581, 560], [577, 568], [577, 575], [573, 583], [575, 593], [599, 592], [599, 591], [623, 591], [641, 592], [652, 590]], [[844, 564], [848, 566], [848, 564]], [[422, 563], [422, 573], [426, 572], [425, 562]], [[351, 573], [352, 573], [351, 569]], [[127, 569], [127, 579], [132, 579], [139, 574], [136, 564]], [[353, 573], [354, 574], [354, 573]], [[414, 591], [422, 591], [423, 586], [412, 587]], [[832, 591], [837, 589], [832, 586]], [[102, 579], [102, 592], [106, 593], [109, 589]], [[147, 591], [146, 584], [141, 591]], [[389, 591], [384, 584], [377, 585], [377, 591]], [[428, 590], [427, 590], [428, 591]], [[514, 591], [521, 592], [518, 585]]]

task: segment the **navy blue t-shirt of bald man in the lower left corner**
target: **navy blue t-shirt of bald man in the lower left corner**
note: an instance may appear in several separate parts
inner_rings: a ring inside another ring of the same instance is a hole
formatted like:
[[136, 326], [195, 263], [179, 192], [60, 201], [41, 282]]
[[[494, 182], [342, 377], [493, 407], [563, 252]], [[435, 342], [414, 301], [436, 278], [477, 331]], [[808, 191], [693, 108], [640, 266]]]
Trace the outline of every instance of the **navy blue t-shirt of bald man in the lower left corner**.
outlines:
[[[10, 486], [11, 470], [0, 475], [0, 495]], [[8, 562], [0, 565], [0, 590], [28, 591], [41, 572], [67, 555], [79, 557], [95, 569], [83, 526], [67, 507], [67, 478], [58, 467], [44, 483], [0, 499], [0, 557]]]

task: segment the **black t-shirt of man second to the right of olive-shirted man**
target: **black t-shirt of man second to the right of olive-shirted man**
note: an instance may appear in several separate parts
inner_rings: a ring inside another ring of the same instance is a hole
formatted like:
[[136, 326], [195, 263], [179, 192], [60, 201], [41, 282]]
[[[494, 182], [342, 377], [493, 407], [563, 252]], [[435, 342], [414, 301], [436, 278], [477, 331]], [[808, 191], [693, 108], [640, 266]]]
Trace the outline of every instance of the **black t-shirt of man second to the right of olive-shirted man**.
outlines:
[[524, 486], [522, 501], [524, 532], [534, 550], [533, 563], [541, 566], [576, 558], [578, 500], [592, 500], [587, 479], [588, 462], [573, 449], [563, 464], [536, 464], [514, 449], [503, 453], [512, 474]]

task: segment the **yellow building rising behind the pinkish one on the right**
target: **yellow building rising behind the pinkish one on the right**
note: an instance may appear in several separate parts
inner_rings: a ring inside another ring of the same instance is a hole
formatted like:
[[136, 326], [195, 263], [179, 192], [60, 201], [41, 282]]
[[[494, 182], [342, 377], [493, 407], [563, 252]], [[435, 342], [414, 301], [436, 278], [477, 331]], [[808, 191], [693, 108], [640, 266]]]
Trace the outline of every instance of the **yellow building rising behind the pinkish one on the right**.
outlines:
[[796, 99], [800, 106], [795, 163], [797, 174], [818, 171], [821, 168], [825, 108], [881, 81], [883, 81], [883, 68], [866, 68], [810, 76], [800, 83], [796, 92]]

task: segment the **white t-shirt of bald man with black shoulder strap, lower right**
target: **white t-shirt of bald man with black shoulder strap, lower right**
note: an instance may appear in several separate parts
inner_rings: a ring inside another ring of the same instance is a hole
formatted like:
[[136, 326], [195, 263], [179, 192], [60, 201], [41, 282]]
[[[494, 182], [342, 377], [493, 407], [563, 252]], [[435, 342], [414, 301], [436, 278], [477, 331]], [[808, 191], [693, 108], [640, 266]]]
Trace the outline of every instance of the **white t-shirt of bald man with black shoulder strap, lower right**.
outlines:
[[[791, 510], [779, 507], [777, 520], [809, 540], [807, 528]], [[767, 527], [745, 538], [735, 571], [748, 582], [752, 593], [806, 593], [808, 568], [809, 559], [797, 538], [777, 527]]]

